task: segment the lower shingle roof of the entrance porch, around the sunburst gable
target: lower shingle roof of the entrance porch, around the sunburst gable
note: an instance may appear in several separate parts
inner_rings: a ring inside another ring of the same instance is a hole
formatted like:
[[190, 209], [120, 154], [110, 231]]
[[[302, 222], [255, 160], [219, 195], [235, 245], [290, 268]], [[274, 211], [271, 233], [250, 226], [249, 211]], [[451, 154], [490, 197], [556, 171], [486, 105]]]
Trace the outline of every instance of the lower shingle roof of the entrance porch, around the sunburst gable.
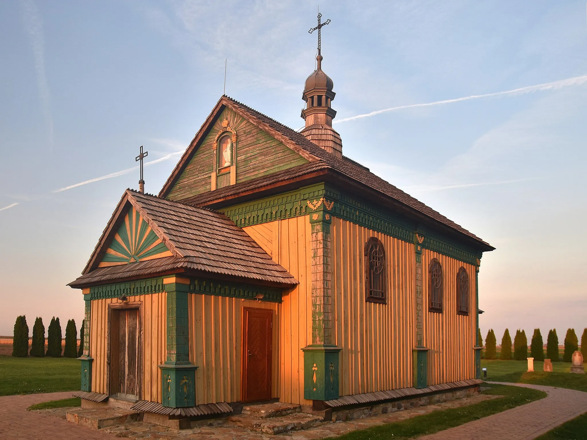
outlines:
[[[104, 248], [112, 239], [117, 220], [126, 211], [127, 204], [133, 205], [146, 219], [173, 256], [99, 268], [97, 265]], [[298, 283], [224, 214], [127, 189], [83, 275], [69, 285], [80, 287], [176, 269], [186, 269], [203, 276], [220, 275], [284, 287]]]

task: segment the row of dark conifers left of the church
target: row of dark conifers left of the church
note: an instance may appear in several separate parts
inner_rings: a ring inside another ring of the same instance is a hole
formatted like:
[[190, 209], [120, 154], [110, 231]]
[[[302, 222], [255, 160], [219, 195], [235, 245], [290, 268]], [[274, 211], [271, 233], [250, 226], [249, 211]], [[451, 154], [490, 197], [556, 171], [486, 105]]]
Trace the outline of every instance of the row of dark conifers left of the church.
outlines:
[[[53, 316], [47, 331], [47, 351], [45, 351], [45, 326], [41, 317], [37, 317], [33, 326], [31, 356], [35, 357], [80, 357], [83, 354], [83, 324], [80, 331], [79, 351], [77, 350], [77, 329], [75, 320], [70, 319], [65, 327], [65, 347], [62, 350], [62, 333], [59, 318]], [[12, 356], [26, 357], [29, 354], [29, 326], [26, 317], [19, 316], [14, 323], [14, 339], [12, 340]]]

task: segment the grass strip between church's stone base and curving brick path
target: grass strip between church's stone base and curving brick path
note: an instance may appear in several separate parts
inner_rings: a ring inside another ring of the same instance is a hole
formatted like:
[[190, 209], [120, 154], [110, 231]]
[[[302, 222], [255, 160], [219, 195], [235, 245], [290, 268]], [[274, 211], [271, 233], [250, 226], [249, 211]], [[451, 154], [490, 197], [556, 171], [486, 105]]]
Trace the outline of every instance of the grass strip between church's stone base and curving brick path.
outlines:
[[483, 394], [502, 395], [503, 397], [479, 402], [468, 407], [434, 411], [430, 414], [419, 415], [400, 422], [349, 432], [348, 434], [336, 437], [336, 439], [407, 439], [419, 435], [434, 434], [434, 432], [457, 427], [458, 425], [546, 397], [545, 392], [532, 390], [531, 388], [508, 387], [505, 385], [490, 385], [490, 387], [491, 390], [483, 391]]

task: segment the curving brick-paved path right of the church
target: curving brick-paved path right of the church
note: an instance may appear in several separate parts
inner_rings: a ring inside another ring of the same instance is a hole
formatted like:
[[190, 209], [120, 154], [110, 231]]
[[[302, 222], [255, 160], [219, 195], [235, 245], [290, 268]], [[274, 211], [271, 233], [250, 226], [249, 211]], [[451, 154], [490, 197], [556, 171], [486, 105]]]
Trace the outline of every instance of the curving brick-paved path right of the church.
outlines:
[[511, 384], [491, 382], [502, 385], [534, 388], [548, 394], [548, 397], [521, 405], [507, 411], [484, 417], [460, 427], [446, 429], [419, 440], [533, 440], [539, 435], [562, 425], [587, 412], [587, 392], [567, 390], [566, 388], [543, 387], [542, 385]]

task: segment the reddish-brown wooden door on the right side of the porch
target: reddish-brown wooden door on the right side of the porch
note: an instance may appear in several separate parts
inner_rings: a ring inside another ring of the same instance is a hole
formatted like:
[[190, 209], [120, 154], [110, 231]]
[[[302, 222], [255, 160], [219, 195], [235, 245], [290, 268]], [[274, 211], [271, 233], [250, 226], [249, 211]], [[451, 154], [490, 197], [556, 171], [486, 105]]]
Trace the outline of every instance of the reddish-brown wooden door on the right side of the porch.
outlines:
[[244, 309], [242, 400], [271, 399], [272, 310]]

